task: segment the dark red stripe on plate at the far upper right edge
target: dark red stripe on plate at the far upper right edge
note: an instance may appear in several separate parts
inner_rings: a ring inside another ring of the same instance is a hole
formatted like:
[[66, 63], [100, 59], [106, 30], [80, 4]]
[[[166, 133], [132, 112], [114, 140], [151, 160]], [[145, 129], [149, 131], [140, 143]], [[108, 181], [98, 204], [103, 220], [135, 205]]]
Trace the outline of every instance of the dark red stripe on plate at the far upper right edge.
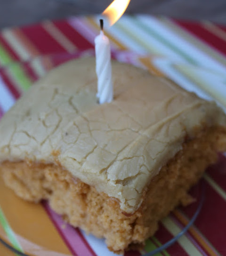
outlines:
[[202, 25], [192, 22], [178, 21], [174, 20], [179, 26], [185, 28], [190, 33], [197, 36], [199, 39], [208, 43], [210, 46], [215, 48], [218, 51], [221, 51], [226, 55], [226, 43], [224, 40], [219, 38], [218, 36], [212, 34], [210, 31], [205, 29]]

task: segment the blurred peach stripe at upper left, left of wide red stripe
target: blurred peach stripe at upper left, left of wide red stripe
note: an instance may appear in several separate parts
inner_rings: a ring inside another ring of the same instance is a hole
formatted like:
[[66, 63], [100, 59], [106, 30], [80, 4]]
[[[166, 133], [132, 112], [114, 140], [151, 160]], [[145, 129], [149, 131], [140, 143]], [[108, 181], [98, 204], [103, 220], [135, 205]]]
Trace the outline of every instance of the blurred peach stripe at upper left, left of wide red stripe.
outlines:
[[34, 44], [26, 37], [26, 35], [19, 29], [14, 28], [11, 32], [16, 36], [16, 38], [24, 45], [27, 51], [33, 56], [40, 55], [40, 51], [34, 46]]

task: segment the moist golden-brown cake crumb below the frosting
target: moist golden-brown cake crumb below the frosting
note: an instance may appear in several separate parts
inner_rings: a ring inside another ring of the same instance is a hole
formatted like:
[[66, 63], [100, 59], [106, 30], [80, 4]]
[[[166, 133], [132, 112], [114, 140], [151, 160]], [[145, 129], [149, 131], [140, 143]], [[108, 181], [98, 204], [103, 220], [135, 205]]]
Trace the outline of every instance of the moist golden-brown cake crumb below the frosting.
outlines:
[[186, 191], [216, 162], [216, 151], [226, 150], [226, 129], [208, 128], [187, 140], [175, 157], [161, 168], [133, 214], [122, 213], [119, 200], [97, 192], [61, 166], [31, 162], [3, 162], [0, 169], [8, 187], [18, 196], [51, 207], [73, 226], [106, 238], [109, 249], [121, 253], [139, 247], [157, 230], [158, 221], [176, 205], [192, 198]]

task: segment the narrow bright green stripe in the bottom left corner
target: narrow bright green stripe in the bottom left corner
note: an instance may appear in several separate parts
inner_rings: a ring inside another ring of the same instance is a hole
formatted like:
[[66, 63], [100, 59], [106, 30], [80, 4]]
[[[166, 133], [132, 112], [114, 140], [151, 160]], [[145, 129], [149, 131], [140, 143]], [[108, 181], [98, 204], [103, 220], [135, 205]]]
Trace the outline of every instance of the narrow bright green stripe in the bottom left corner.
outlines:
[[23, 248], [21, 247], [20, 243], [18, 242], [18, 240], [16, 239], [16, 235], [14, 233], [14, 231], [11, 229], [3, 211], [1, 210], [1, 207], [0, 207], [0, 223], [3, 227], [3, 229], [5, 230], [7, 236], [8, 236], [8, 239], [9, 241], [11, 242], [12, 246], [20, 251], [20, 252], [24, 252], [23, 251]]

